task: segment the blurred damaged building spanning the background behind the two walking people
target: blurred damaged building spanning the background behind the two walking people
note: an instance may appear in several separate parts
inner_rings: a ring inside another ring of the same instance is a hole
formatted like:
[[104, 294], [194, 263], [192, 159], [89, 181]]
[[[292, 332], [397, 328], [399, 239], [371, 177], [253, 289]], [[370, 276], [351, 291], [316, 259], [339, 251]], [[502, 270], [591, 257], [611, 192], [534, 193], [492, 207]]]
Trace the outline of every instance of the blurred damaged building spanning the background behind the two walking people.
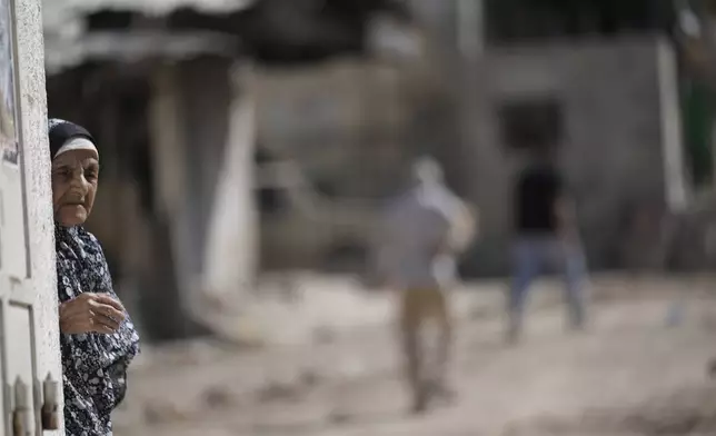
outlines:
[[[364, 61], [261, 75], [259, 142], [300, 161], [321, 194], [306, 188], [298, 201], [286, 188], [274, 196], [278, 206], [262, 219], [262, 265], [359, 264], [370, 205], [396, 189], [410, 156], [427, 151], [442, 161], [450, 187], [480, 209], [481, 238], [463, 271], [504, 277], [526, 136], [558, 146], [595, 270], [683, 262], [676, 216], [702, 182], [698, 156], [709, 146], [694, 141], [700, 115], [672, 2], [406, 6], [429, 41], [422, 62], [430, 68], [395, 73]], [[311, 215], [317, 207], [297, 207], [325, 205], [326, 197], [351, 211], [336, 214], [341, 226]]]

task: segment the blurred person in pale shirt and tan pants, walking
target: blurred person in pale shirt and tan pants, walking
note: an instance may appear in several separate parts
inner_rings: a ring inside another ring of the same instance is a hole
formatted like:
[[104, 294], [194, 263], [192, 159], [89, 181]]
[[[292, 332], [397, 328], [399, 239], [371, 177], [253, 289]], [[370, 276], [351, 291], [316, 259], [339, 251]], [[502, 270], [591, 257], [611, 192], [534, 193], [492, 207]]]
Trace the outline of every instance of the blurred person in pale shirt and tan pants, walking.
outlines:
[[[473, 240], [475, 217], [445, 186], [434, 160], [418, 160], [412, 177], [410, 189], [385, 211], [376, 237], [376, 264], [381, 281], [401, 293], [406, 371], [412, 409], [421, 413], [434, 395], [451, 396], [445, 384], [453, 334], [446, 291], [457, 281], [457, 256]], [[439, 328], [436, 359], [426, 356], [420, 340], [426, 321]], [[437, 366], [426, 368], [427, 361]]]

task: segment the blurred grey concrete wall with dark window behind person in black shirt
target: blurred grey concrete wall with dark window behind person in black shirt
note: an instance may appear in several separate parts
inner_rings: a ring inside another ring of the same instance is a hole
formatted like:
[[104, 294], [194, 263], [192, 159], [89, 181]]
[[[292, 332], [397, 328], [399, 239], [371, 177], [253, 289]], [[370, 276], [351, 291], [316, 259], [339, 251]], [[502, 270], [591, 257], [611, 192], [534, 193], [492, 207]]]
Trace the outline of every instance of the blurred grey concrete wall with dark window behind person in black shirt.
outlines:
[[470, 269], [507, 271], [510, 192], [520, 160], [498, 131], [497, 106], [508, 99], [541, 95], [563, 105], [560, 160], [579, 202], [593, 267], [616, 266], [628, 208], [667, 208], [664, 150], [668, 146], [678, 157], [680, 145], [673, 143], [678, 133], [666, 137], [662, 127], [664, 115], [678, 117], [663, 110], [677, 103], [662, 91], [658, 62], [664, 50], [669, 48], [655, 39], [627, 38], [487, 51], [475, 72], [475, 92], [466, 96], [473, 102], [464, 118], [463, 152], [469, 156], [461, 171], [473, 175], [467, 189], [480, 207], [484, 235]]

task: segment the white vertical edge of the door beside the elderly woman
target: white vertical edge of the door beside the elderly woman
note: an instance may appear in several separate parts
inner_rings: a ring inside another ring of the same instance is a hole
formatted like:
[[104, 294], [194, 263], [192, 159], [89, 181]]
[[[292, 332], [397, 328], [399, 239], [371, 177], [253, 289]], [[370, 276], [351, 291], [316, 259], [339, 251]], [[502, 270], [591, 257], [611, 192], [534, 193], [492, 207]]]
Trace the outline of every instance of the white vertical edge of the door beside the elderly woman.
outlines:
[[[52, 378], [61, 380], [40, 3], [39, 0], [14, 1], [19, 66], [16, 78], [20, 85], [21, 140], [24, 155], [24, 184], [28, 192], [26, 206], [31, 251], [29, 283], [34, 296], [37, 377], [43, 379], [51, 374]], [[63, 435], [64, 433], [59, 430], [46, 434]]]

